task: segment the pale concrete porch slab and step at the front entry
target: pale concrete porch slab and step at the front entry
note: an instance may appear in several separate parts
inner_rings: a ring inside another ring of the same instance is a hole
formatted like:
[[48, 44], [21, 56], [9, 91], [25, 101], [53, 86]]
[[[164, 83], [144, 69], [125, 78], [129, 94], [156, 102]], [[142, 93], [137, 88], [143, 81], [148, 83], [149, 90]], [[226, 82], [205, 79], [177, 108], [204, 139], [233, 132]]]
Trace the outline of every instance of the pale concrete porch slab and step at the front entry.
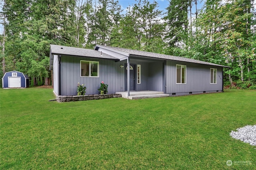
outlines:
[[169, 94], [164, 94], [164, 92], [158, 92], [158, 91], [152, 91], [152, 90], [130, 91], [129, 96], [127, 91], [116, 92], [116, 94], [121, 94], [122, 98], [128, 98], [128, 99], [161, 98], [161, 97], [169, 96]]

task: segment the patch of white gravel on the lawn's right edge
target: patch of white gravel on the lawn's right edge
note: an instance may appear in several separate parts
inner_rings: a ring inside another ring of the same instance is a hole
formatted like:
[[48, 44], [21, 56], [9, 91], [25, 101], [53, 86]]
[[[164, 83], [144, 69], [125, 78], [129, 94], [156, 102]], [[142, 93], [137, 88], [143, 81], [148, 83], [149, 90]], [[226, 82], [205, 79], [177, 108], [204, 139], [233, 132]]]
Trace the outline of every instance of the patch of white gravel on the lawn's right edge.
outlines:
[[231, 131], [230, 136], [234, 139], [239, 139], [245, 143], [256, 146], [256, 125], [246, 125]]

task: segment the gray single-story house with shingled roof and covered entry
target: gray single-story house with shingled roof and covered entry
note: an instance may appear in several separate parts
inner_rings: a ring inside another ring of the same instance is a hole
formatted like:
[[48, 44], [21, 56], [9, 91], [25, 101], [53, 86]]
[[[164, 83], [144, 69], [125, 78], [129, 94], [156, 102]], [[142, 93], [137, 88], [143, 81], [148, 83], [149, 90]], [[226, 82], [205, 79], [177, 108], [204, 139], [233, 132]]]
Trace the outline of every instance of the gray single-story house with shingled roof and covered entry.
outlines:
[[[128, 69], [130, 68], [130, 69]], [[96, 45], [94, 50], [50, 45], [54, 93], [76, 95], [77, 83], [86, 94], [98, 94], [100, 82], [108, 93], [154, 91], [165, 96], [223, 92], [219, 64], [145, 51]], [[128, 71], [130, 70], [130, 71]]]

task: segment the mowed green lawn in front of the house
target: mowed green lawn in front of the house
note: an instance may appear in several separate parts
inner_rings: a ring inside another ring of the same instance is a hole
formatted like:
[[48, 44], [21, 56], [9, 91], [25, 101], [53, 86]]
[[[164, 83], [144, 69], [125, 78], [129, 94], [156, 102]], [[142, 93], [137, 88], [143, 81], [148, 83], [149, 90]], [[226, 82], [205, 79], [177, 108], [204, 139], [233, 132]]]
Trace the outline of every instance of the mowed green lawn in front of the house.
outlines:
[[256, 91], [48, 102], [54, 98], [52, 89], [0, 90], [1, 170], [256, 169], [256, 147], [230, 137], [256, 124]]

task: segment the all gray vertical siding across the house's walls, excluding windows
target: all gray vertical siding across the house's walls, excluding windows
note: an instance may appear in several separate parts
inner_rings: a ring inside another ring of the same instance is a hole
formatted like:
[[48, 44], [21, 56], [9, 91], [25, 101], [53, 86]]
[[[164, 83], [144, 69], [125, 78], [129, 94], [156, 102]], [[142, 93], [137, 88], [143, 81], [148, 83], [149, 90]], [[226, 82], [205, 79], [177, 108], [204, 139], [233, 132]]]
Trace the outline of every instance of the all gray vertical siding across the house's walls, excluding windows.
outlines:
[[[81, 77], [80, 61], [99, 61], [99, 77]], [[108, 84], [108, 93], [125, 91], [125, 65], [127, 61], [115, 62], [106, 59], [90, 59], [86, 57], [61, 57], [60, 65], [60, 85], [63, 96], [76, 95], [77, 83], [85, 84], [86, 94], [98, 94], [100, 82]], [[131, 64], [141, 65], [141, 84], [137, 84], [135, 78], [135, 90], [154, 90], [166, 93], [193, 94], [222, 91], [222, 67], [210, 66], [196, 63], [186, 63], [178, 61], [166, 61], [166, 78], [164, 78], [164, 64], [158, 61], [146, 61], [141, 59], [131, 59]], [[186, 84], [176, 84], [176, 64], [186, 65]], [[217, 84], [210, 84], [210, 68], [217, 68]], [[137, 68], [136, 75], [137, 75]], [[58, 56], [54, 55], [54, 92], [58, 94]], [[166, 82], [164, 82], [166, 81]], [[178, 94], [177, 94], [178, 95]]]

